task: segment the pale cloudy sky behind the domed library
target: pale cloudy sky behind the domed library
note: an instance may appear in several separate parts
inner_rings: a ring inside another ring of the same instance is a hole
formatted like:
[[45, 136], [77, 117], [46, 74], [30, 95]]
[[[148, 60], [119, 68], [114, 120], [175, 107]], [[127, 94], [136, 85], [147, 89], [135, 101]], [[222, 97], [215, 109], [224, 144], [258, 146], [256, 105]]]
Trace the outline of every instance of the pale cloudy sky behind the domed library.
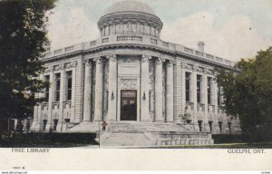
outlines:
[[[122, 0], [58, 0], [47, 26], [52, 49], [99, 37], [97, 22]], [[238, 61], [272, 46], [272, 0], [137, 0], [163, 22], [160, 38]]]

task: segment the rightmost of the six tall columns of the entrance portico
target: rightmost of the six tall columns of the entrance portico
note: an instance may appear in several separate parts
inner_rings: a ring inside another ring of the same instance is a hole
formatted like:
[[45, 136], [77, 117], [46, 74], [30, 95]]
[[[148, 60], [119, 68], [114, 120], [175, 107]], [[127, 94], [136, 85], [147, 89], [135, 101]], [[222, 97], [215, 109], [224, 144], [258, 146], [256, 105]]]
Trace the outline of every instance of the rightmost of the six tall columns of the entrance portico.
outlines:
[[166, 66], [166, 121], [174, 121], [174, 73], [172, 61]]

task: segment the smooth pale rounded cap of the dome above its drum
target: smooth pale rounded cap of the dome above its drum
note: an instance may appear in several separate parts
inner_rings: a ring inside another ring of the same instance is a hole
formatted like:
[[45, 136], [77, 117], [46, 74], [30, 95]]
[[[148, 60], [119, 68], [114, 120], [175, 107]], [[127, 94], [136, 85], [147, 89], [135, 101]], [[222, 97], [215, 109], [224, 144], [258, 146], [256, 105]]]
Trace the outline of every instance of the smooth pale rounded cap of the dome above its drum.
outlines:
[[138, 12], [156, 15], [151, 6], [137, 1], [121, 1], [119, 3], [115, 3], [106, 10], [104, 15], [120, 12]]

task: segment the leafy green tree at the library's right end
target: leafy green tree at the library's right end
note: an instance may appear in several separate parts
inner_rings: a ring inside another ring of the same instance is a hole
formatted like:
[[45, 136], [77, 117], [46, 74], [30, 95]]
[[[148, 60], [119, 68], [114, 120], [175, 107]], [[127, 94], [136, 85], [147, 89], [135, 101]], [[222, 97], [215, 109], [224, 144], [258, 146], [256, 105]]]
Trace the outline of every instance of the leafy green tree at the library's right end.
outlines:
[[246, 139], [272, 140], [272, 47], [237, 63], [239, 73], [219, 70], [225, 110], [238, 116]]

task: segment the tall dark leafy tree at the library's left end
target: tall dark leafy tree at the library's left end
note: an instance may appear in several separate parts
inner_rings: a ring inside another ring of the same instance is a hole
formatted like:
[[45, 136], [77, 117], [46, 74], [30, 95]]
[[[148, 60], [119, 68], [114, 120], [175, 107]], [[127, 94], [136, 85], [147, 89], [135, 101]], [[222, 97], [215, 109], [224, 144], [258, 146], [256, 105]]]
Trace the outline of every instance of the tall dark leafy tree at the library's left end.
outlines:
[[44, 71], [49, 48], [46, 14], [54, 0], [0, 1], [0, 118], [23, 118], [32, 113], [46, 85], [37, 79]]

